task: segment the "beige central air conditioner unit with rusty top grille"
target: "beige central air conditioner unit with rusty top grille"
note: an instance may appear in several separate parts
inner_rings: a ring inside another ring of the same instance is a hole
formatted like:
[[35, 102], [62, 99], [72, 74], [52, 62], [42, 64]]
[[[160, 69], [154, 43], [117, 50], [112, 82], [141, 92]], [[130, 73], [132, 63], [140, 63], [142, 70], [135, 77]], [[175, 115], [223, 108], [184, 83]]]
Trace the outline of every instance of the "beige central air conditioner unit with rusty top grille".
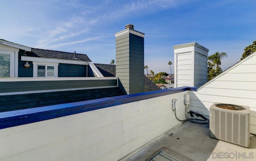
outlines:
[[210, 107], [210, 137], [249, 147], [250, 107], [214, 103]]

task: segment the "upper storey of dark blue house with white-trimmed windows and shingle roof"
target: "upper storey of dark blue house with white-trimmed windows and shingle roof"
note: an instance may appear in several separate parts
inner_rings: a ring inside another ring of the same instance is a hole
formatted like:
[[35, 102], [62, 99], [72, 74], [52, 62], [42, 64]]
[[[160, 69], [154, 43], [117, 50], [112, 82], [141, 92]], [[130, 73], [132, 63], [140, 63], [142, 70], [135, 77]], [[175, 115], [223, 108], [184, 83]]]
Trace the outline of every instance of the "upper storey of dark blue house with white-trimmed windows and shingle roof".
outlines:
[[[88, 77], [86, 54], [30, 48], [0, 39], [0, 77]], [[5, 72], [3, 72], [5, 71]]]

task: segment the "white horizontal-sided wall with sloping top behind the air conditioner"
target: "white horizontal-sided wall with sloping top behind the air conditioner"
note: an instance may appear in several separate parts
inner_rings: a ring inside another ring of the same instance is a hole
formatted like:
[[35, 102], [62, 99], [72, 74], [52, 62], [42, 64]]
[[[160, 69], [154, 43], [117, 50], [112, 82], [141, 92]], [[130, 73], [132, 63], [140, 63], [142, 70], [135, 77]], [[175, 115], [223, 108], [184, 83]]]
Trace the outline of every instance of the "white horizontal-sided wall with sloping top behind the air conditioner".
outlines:
[[[250, 132], [256, 134], [256, 53], [190, 94], [190, 107], [202, 111], [214, 102], [250, 107]], [[209, 115], [209, 114], [208, 114]]]

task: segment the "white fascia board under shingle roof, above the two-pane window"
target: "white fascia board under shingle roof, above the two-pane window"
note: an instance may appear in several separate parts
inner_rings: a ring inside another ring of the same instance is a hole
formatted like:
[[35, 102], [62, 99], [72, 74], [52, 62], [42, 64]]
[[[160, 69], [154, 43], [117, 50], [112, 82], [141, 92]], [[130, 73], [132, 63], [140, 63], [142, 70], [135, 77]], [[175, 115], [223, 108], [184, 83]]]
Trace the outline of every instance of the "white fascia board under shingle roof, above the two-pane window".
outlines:
[[48, 62], [48, 63], [88, 65], [88, 62], [84, 62], [84, 61], [52, 59], [52, 58], [37, 58], [37, 57], [30, 57], [30, 56], [21, 56], [21, 60], [22, 61], [32, 61], [32, 62]]

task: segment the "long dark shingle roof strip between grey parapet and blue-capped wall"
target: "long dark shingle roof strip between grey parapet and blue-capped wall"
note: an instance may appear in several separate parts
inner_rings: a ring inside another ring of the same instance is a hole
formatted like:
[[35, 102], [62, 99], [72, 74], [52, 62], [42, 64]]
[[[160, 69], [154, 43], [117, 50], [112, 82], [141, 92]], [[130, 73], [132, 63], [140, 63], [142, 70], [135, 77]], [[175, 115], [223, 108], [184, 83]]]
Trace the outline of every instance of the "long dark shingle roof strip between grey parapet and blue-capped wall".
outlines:
[[0, 112], [124, 95], [119, 87], [1, 95]]

